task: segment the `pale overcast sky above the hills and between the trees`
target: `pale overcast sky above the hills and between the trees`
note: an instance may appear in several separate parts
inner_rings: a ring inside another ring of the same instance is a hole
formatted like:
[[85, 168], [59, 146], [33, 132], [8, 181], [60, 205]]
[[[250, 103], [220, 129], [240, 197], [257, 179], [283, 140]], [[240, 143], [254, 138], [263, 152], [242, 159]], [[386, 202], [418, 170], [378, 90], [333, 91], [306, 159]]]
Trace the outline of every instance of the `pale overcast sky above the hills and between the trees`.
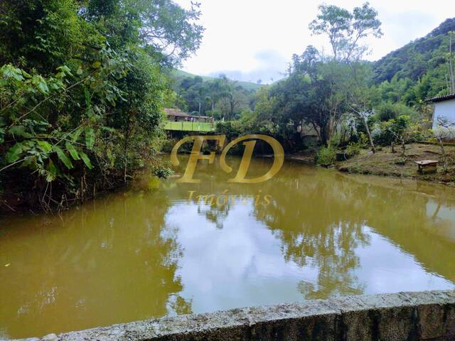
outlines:
[[[194, 0], [193, 0], [194, 1]], [[188, 7], [191, 0], [176, 0]], [[183, 70], [197, 75], [225, 73], [235, 80], [271, 82], [282, 77], [293, 53], [307, 45], [329, 50], [323, 36], [311, 36], [308, 24], [319, 4], [335, 4], [352, 11], [365, 1], [357, 0], [199, 0], [205, 27], [196, 55]], [[455, 17], [447, 0], [370, 0], [378, 10], [384, 36], [367, 41], [378, 60], [402, 45], [422, 37], [446, 18]]]

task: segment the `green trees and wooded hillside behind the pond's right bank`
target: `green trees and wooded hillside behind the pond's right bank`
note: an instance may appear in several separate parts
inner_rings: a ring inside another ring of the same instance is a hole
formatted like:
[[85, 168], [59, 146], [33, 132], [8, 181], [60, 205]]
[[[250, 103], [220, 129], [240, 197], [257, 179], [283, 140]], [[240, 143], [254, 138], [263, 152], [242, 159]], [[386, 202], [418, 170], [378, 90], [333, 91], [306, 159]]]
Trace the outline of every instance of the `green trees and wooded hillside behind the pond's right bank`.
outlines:
[[454, 92], [450, 31], [455, 20], [369, 63], [363, 61], [368, 46], [362, 40], [382, 36], [375, 9], [365, 3], [352, 12], [326, 5], [319, 11], [309, 28], [328, 37], [331, 55], [313, 46], [293, 55], [287, 78], [260, 90], [251, 114], [220, 129], [267, 131], [289, 151], [307, 147], [307, 137], [316, 136], [323, 145], [318, 156], [323, 164], [333, 162], [338, 146], [352, 156], [360, 146], [375, 153], [376, 145], [405, 148], [407, 141], [425, 139], [432, 109], [424, 99]]

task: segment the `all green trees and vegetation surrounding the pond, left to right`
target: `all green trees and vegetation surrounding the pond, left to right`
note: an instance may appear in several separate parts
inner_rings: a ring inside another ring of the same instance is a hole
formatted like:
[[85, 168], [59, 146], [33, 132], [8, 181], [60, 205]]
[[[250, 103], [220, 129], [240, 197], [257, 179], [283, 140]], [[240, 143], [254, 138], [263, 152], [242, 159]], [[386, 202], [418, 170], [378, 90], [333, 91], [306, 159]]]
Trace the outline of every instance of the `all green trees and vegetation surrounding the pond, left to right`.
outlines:
[[4, 0], [0, 14], [1, 207], [65, 207], [129, 182], [146, 163], [170, 174], [156, 154], [169, 145], [164, 129], [179, 129], [164, 107], [213, 118], [228, 139], [268, 134], [289, 152], [317, 145], [323, 165], [339, 148], [348, 157], [381, 146], [404, 155], [422, 139], [444, 148], [451, 131], [429, 131], [425, 101], [455, 92], [455, 19], [372, 63], [365, 40], [383, 34], [378, 12], [321, 5], [309, 30], [328, 38], [330, 53], [307, 46], [283, 80], [253, 86], [177, 70], [200, 46], [199, 4]]

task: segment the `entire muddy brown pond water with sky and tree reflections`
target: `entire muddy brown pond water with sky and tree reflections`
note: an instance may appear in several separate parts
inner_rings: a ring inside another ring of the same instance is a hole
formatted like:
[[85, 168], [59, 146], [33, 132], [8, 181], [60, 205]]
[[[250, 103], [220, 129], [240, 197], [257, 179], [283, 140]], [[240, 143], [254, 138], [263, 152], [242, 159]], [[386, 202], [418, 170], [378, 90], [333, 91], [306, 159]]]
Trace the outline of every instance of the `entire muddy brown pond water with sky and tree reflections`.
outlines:
[[[251, 175], [270, 163], [253, 160]], [[0, 339], [455, 288], [452, 188], [292, 162], [259, 184], [228, 183], [218, 162], [198, 163], [195, 178], [145, 172], [60, 216], [2, 218]], [[211, 194], [213, 205], [198, 197]]]

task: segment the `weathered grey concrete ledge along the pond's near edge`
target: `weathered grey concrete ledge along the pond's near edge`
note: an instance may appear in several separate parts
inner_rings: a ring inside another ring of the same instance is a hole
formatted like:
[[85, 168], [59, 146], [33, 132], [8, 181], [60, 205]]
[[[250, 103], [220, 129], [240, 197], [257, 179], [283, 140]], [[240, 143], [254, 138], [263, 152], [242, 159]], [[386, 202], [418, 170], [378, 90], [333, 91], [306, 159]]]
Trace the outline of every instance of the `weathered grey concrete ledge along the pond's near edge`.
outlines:
[[455, 340], [455, 291], [240, 308], [26, 340]]

